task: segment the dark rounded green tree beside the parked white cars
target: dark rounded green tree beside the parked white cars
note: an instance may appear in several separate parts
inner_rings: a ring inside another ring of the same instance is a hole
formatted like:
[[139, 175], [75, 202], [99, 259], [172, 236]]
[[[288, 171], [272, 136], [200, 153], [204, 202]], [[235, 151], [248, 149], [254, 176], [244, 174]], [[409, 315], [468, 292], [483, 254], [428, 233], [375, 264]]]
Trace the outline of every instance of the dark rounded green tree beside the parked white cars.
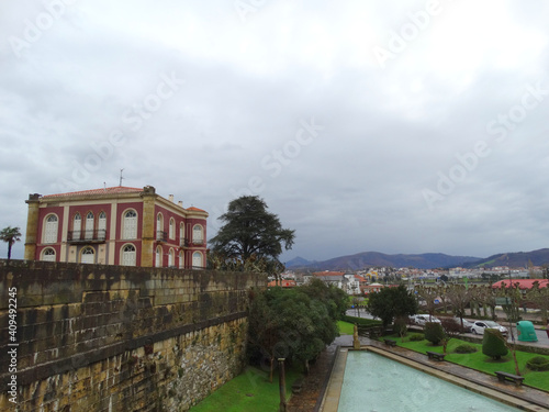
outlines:
[[394, 318], [404, 318], [417, 312], [417, 302], [406, 288], [383, 288], [368, 296], [368, 311], [381, 319], [383, 327], [389, 326]]

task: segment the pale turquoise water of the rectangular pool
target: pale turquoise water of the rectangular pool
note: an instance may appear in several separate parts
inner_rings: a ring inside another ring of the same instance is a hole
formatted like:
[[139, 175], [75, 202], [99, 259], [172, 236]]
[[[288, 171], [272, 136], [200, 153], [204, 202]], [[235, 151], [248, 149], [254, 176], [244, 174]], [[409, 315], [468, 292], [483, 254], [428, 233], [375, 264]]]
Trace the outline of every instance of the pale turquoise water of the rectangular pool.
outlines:
[[519, 411], [410, 366], [350, 350], [338, 412]]

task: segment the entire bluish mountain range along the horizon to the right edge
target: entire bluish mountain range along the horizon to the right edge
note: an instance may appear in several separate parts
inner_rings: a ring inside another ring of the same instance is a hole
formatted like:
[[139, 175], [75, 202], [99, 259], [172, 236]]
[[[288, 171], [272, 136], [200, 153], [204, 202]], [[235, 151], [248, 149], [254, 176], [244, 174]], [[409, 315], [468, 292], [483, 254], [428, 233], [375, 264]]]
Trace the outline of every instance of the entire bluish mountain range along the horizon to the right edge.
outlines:
[[417, 269], [450, 268], [450, 267], [524, 267], [549, 264], [549, 248], [533, 252], [513, 252], [492, 255], [486, 258], [473, 256], [450, 256], [441, 253], [425, 253], [417, 255], [386, 255], [379, 252], [362, 252], [355, 255], [334, 257], [322, 261], [310, 261], [295, 257], [285, 263], [288, 269], [312, 270], [360, 270], [376, 266], [414, 267]]

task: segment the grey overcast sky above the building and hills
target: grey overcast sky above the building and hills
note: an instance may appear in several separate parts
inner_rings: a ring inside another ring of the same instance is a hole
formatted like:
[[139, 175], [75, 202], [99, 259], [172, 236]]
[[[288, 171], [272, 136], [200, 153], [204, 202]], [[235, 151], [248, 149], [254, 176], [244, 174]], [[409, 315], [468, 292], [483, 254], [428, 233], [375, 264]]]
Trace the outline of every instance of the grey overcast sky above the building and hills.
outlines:
[[24, 235], [29, 193], [117, 186], [123, 168], [123, 186], [210, 212], [209, 237], [258, 194], [295, 230], [282, 260], [549, 247], [548, 15], [544, 0], [3, 1], [0, 227]]

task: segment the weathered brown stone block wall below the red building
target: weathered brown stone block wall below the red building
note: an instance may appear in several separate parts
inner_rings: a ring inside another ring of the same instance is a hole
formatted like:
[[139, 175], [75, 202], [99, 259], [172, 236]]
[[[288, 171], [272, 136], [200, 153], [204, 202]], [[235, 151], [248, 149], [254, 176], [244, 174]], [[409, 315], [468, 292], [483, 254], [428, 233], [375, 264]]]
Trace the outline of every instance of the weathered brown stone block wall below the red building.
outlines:
[[266, 285], [259, 274], [0, 260], [0, 410], [187, 411], [242, 371], [248, 290]]

